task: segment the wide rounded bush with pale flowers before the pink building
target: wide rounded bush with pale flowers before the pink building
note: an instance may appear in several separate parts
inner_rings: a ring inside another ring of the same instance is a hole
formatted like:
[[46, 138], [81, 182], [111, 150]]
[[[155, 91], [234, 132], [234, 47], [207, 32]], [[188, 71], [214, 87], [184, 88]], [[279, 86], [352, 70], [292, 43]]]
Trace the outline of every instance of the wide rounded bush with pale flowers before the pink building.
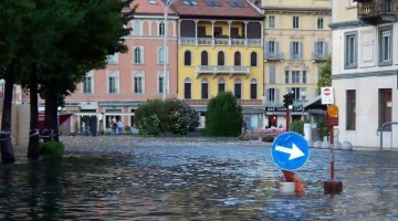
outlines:
[[136, 109], [134, 122], [139, 135], [186, 135], [199, 126], [199, 114], [180, 99], [148, 99]]

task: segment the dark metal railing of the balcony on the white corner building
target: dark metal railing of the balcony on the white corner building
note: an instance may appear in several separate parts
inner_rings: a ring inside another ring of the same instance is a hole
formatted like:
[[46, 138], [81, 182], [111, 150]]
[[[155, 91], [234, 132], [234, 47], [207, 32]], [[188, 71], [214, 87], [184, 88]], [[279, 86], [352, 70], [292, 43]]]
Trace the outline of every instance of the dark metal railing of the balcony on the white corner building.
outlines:
[[396, 13], [398, 0], [362, 0], [358, 1], [358, 18], [371, 18]]

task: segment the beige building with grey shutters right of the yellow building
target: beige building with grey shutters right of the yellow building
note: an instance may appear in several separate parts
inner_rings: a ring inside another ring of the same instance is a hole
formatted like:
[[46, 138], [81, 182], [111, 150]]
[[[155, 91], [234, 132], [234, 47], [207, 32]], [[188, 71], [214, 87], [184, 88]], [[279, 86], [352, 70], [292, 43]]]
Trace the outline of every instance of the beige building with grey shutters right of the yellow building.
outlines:
[[[344, 1], [344, 0], [342, 0]], [[263, 0], [265, 125], [284, 126], [283, 95], [295, 94], [294, 119], [318, 95], [321, 66], [331, 52], [331, 0]], [[305, 92], [305, 93], [303, 93]]]

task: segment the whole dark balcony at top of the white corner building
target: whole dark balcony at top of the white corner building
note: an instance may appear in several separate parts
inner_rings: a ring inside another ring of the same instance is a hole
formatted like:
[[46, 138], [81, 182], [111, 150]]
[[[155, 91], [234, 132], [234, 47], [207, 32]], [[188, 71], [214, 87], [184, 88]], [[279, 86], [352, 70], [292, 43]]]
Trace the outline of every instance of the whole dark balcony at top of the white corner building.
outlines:
[[368, 24], [397, 21], [398, 0], [358, 0], [358, 19]]

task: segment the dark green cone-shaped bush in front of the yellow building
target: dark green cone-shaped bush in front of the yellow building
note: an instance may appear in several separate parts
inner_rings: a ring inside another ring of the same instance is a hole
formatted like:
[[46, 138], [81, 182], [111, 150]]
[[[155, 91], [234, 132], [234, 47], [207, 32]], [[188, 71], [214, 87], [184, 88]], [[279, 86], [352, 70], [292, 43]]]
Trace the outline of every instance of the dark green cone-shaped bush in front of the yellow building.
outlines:
[[210, 136], [237, 137], [242, 131], [242, 107], [231, 92], [211, 97], [206, 112], [206, 131]]

